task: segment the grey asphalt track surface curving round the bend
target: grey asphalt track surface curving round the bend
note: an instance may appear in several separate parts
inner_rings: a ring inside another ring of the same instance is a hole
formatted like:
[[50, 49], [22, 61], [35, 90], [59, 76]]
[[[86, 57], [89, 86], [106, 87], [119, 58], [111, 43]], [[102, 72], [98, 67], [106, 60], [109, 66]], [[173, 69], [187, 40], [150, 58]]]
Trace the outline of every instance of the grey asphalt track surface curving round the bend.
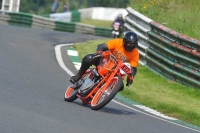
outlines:
[[[1, 24], [0, 32], [0, 133], [199, 132], [145, 115], [121, 101], [99, 111], [80, 100], [65, 102], [70, 75], [58, 64], [54, 47], [101, 37]], [[66, 47], [60, 49], [63, 61], [75, 73]]]

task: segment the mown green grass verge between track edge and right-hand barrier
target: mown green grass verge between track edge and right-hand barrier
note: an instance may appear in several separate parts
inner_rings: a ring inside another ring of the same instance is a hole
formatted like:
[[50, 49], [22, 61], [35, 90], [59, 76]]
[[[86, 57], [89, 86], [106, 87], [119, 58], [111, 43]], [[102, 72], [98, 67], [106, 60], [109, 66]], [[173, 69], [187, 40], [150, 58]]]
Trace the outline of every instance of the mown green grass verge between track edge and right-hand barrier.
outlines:
[[[80, 58], [83, 58], [86, 54], [94, 53], [96, 46], [107, 40], [75, 44], [74, 48], [78, 50]], [[168, 116], [200, 126], [200, 91], [167, 80], [145, 66], [138, 66], [134, 83], [120, 93]]]

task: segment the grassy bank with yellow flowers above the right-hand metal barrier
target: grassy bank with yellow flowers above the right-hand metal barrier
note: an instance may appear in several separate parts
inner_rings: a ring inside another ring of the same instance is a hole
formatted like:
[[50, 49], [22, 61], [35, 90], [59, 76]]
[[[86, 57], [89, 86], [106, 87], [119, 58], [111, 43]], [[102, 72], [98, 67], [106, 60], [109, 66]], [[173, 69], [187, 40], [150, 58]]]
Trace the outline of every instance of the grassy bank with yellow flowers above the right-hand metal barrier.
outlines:
[[179, 33], [200, 39], [199, 0], [130, 0], [129, 6]]

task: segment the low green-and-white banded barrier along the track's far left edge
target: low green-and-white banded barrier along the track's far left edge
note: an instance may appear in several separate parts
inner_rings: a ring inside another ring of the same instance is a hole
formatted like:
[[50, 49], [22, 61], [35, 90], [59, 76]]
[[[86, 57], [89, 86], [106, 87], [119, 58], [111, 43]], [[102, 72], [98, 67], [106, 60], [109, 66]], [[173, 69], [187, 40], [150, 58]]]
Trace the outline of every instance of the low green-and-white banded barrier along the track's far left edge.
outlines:
[[[80, 20], [80, 13], [74, 11], [72, 19], [75, 21]], [[15, 25], [20, 27], [37, 27], [47, 28], [64, 32], [76, 32], [91, 34], [97, 36], [111, 36], [111, 28], [95, 27], [92, 25], [80, 24], [75, 22], [62, 22], [55, 21], [50, 18], [27, 14], [27, 13], [13, 13], [0, 11], [0, 23], [7, 25]]]

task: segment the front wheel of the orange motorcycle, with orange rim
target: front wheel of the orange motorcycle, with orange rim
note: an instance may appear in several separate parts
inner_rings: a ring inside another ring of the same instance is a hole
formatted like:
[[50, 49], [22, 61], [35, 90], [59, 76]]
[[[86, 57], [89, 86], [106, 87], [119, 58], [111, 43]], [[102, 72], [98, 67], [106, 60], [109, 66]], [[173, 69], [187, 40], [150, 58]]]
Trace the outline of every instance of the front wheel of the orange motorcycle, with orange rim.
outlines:
[[[106, 83], [104, 83], [104, 85], [105, 84]], [[102, 85], [102, 87], [104, 87], [104, 85]], [[91, 109], [99, 110], [103, 108], [115, 97], [115, 95], [120, 91], [122, 87], [122, 78], [120, 76], [115, 76], [104, 91], [102, 91], [102, 89], [100, 88], [94, 95], [91, 102]]]

